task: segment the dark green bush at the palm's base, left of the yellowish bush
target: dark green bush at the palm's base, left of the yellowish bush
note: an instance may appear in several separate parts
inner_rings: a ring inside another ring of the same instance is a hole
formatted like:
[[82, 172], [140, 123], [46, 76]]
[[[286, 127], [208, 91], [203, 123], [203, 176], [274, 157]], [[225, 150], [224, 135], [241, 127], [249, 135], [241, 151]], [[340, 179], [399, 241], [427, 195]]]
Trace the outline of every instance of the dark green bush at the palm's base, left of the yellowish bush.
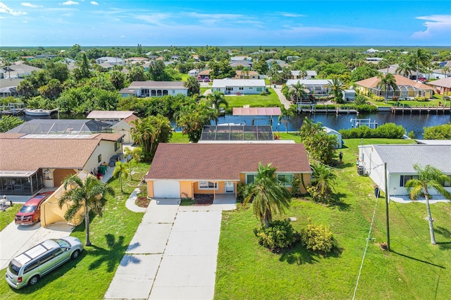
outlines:
[[295, 241], [295, 230], [290, 220], [276, 220], [269, 223], [269, 227], [264, 225], [254, 228], [254, 235], [258, 238], [259, 244], [268, 249], [281, 249], [291, 246]]

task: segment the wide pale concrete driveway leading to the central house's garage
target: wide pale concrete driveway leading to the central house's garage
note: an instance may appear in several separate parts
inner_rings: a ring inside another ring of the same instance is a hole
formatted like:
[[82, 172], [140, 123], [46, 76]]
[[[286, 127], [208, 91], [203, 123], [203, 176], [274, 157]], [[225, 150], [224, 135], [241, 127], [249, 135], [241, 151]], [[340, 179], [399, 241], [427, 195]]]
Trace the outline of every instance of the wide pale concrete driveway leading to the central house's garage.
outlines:
[[221, 212], [235, 209], [235, 199], [179, 201], [150, 202], [105, 299], [213, 299]]

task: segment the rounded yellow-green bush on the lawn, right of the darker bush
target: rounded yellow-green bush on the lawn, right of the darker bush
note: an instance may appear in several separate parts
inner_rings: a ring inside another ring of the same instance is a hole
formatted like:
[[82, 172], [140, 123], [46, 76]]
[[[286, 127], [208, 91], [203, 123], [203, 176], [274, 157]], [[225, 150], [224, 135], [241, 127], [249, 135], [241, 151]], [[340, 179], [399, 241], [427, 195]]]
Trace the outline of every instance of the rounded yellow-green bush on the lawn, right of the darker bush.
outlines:
[[321, 253], [332, 251], [334, 244], [329, 227], [311, 223], [301, 230], [301, 242], [307, 249]]

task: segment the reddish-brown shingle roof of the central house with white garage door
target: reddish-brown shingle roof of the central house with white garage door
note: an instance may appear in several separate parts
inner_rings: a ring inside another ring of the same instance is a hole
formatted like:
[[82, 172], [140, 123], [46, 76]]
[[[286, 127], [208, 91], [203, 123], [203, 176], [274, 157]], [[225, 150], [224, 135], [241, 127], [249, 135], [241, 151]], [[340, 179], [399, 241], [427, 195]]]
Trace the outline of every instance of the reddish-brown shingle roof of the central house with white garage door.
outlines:
[[259, 163], [310, 173], [303, 144], [159, 144], [147, 180], [240, 180]]

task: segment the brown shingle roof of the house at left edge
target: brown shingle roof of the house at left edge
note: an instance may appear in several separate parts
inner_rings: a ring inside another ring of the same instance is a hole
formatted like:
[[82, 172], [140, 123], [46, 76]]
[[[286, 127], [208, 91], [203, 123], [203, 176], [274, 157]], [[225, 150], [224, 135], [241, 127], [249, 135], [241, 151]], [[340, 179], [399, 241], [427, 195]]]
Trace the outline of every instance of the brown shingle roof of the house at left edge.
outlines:
[[0, 139], [0, 170], [85, 166], [99, 139]]

